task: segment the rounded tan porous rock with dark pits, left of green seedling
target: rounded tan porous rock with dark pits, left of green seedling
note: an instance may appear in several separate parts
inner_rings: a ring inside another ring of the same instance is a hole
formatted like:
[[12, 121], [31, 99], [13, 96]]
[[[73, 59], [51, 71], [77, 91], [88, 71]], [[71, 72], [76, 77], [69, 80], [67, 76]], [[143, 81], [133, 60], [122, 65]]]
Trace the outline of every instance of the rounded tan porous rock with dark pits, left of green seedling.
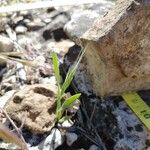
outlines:
[[25, 119], [24, 126], [33, 134], [48, 132], [54, 125], [56, 89], [49, 84], [25, 86], [14, 94], [5, 109], [18, 123]]

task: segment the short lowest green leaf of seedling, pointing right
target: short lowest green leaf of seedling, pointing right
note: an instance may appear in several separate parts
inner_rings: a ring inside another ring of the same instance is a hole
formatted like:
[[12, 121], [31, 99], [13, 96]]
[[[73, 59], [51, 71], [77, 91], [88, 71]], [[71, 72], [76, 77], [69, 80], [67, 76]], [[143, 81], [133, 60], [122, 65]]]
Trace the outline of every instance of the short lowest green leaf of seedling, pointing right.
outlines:
[[63, 110], [69, 108], [80, 96], [81, 96], [80, 93], [75, 94], [75, 95], [69, 97], [67, 100], [65, 100], [64, 103], [62, 104]]

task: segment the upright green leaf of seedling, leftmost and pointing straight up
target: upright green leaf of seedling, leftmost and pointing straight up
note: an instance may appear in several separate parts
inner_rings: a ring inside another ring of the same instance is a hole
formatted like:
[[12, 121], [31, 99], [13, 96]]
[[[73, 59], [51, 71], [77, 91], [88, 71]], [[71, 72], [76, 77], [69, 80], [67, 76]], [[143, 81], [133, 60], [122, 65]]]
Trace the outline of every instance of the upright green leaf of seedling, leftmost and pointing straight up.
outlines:
[[59, 61], [57, 54], [55, 52], [52, 53], [52, 61], [53, 61], [53, 67], [54, 67], [54, 72], [55, 72], [55, 77], [57, 84], [60, 84], [60, 71], [59, 71]]

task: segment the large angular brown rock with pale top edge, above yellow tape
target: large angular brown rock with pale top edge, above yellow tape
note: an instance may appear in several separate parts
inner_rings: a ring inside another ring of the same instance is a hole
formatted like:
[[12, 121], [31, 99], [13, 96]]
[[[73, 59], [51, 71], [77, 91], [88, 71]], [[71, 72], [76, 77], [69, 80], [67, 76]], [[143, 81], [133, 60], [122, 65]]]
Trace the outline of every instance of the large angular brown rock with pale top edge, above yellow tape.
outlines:
[[150, 88], [150, 1], [118, 0], [81, 38], [94, 92]]

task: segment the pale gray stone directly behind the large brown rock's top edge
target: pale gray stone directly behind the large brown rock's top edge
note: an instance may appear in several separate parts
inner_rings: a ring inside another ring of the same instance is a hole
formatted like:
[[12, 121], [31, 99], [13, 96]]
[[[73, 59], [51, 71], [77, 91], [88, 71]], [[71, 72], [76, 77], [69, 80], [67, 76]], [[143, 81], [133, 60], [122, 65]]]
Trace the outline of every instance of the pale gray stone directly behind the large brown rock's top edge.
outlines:
[[64, 31], [70, 39], [79, 44], [79, 38], [92, 26], [94, 20], [112, 8], [114, 2], [101, 0], [97, 4], [71, 7], [71, 20], [65, 25]]

